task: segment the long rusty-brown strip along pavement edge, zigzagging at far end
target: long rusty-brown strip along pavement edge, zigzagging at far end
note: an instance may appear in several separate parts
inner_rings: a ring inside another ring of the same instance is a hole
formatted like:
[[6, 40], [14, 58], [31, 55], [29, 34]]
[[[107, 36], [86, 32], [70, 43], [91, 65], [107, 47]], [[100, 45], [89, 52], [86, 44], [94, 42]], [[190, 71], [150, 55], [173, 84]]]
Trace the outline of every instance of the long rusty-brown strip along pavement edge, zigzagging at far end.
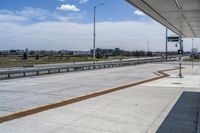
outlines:
[[58, 102], [55, 102], [55, 103], [50, 103], [50, 104], [46, 104], [46, 105], [42, 105], [42, 106], [38, 106], [38, 107], [34, 107], [34, 108], [29, 108], [29, 109], [22, 110], [22, 111], [19, 111], [19, 112], [14, 112], [14, 113], [11, 113], [11, 114], [8, 114], [8, 115], [5, 115], [5, 116], [0, 116], [0, 123], [8, 122], [8, 121], [15, 120], [15, 119], [18, 119], [18, 118], [22, 118], [22, 117], [25, 117], [25, 116], [28, 116], [28, 115], [33, 115], [33, 114], [36, 114], [36, 113], [39, 113], [39, 112], [42, 112], [42, 111], [46, 111], [46, 110], [55, 109], [55, 108], [58, 108], [58, 107], [70, 105], [70, 104], [77, 103], [77, 102], [80, 102], [80, 101], [84, 101], [84, 100], [87, 100], [87, 99], [95, 98], [95, 97], [98, 97], [98, 96], [102, 96], [102, 95], [105, 95], [105, 94], [109, 94], [109, 93], [112, 93], [112, 92], [127, 89], [127, 88], [130, 88], [130, 87], [133, 87], [133, 86], [137, 86], [137, 85], [141, 85], [141, 84], [144, 84], [144, 83], [147, 83], [147, 82], [155, 81], [155, 80], [158, 80], [158, 79], [161, 79], [161, 78], [165, 78], [165, 77], [170, 76], [169, 74], [167, 74], [165, 72], [172, 71], [172, 70], [177, 70], [177, 68], [157, 71], [157, 73], [159, 73], [160, 75], [159, 76], [157, 75], [157, 77], [153, 77], [153, 78], [150, 78], [150, 79], [141, 80], [141, 81], [138, 81], [138, 82], [121, 85], [121, 86], [118, 86], [118, 87], [106, 89], [106, 90], [99, 91], [99, 92], [94, 92], [94, 93], [91, 93], [91, 94], [78, 96], [78, 97], [71, 98], [71, 99], [61, 100], [61, 101], [58, 101]]

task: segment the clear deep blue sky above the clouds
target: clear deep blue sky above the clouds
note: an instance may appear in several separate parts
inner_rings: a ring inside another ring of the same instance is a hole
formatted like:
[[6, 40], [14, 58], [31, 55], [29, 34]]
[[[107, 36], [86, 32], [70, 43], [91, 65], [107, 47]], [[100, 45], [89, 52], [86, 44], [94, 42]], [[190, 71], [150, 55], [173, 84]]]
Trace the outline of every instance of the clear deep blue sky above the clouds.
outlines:
[[[136, 9], [125, 0], [1, 0], [0, 9], [13, 12], [20, 12], [27, 8], [41, 9], [63, 16], [80, 15], [82, 18], [76, 19], [76, 22], [91, 23], [93, 21], [93, 6], [99, 3], [105, 3], [104, 6], [97, 9], [97, 20], [99, 21], [148, 19], [148, 17], [141, 17], [134, 14]], [[74, 5], [80, 11], [58, 10], [57, 7], [61, 5]], [[47, 20], [51, 20], [51, 18], [49, 17]]]

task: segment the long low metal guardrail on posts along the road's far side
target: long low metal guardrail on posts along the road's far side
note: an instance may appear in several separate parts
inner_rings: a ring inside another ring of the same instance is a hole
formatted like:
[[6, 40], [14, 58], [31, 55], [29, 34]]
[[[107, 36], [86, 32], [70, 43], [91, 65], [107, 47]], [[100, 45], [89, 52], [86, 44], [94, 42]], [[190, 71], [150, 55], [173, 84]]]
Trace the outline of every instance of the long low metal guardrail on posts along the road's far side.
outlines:
[[[172, 60], [173, 59], [170, 59], [168, 61], [172, 61]], [[39, 75], [44, 75], [44, 74], [132, 66], [132, 65], [138, 65], [138, 64], [164, 62], [164, 61], [166, 60], [162, 58], [152, 58], [152, 59], [141, 59], [141, 60], [101, 62], [101, 63], [95, 63], [95, 64], [87, 63], [87, 64], [73, 64], [73, 65], [54, 66], [54, 67], [36, 67], [36, 68], [24, 68], [24, 69], [15, 69], [15, 70], [3, 70], [3, 71], [0, 71], [0, 79], [10, 79], [10, 78], [19, 78], [19, 77], [28, 77], [28, 76], [39, 76]]]

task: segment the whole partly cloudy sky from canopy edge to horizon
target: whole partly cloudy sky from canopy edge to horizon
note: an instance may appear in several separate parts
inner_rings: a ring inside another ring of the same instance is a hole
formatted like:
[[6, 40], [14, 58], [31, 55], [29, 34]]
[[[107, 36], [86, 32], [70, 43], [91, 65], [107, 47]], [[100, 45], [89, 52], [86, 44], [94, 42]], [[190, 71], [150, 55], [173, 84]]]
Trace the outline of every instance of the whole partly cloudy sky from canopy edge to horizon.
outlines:
[[[165, 27], [126, 0], [1, 0], [0, 50], [89, 50], [96, 47], [164, 51]], [[174, 33], [170, 32], [170, 35]], [[195, 47], [200, 48], [199, 39]], [[184, 39], [184, 49], [191, 49]], [[170, 50], [177, 50], [169, 43]]]

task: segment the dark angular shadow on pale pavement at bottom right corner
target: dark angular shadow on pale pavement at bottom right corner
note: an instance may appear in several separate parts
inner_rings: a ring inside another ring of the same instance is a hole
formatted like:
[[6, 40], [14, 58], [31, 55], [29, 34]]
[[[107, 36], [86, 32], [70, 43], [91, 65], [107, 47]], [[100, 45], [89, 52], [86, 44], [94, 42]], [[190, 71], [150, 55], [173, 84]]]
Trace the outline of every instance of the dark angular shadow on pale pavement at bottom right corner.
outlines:
[[196, 133], [200, 92], [183, 92], [156, 133]]

